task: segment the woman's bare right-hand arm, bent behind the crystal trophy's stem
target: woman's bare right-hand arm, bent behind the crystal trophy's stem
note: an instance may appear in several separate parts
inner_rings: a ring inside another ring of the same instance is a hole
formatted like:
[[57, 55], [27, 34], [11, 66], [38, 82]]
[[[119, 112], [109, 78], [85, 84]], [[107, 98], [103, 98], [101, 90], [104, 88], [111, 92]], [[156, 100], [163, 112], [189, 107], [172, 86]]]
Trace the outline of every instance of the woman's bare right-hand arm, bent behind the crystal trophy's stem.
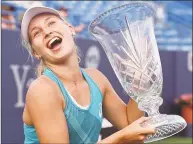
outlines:
[[129, 100], [126, 105], [121, 98], [117, 95], [109, 80], [97, 69], [92, 69], [93, 77], [102, 86], [104, 95], [103, 100], [103, 114], [113, 126], [118, 129], [123, 129], [133, 121], [144, 116], [144, 113], [138, 109], [135, 101]]

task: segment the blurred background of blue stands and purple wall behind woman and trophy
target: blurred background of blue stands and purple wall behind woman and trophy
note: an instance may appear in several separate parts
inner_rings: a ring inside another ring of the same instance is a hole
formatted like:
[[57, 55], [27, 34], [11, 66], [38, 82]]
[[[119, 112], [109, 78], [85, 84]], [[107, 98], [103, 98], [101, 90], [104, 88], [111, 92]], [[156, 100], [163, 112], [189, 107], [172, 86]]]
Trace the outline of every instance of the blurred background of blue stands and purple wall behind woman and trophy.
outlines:
[[[23, 143], [22, 112], [25, 94], [35, 79], [37, 61], [21, 46], [20, 23], [25, 10], [48, 6], [60, 11], [77, 33], [75, 41], [82, 53], [81, 67], [94, 67], [104, 73], [121, 99], [129, 96], [118, 82], [101, 45], [89, 34], [89, 23], [100, 13], [129, 1], [2, 1], [2, 97], [1, 141]], [[155, 10], [155, 36], [163, 68], [164, 103], [161, 113], [177, 114], [188, 126], [180, 133], [156, 143], [192, 143], [192, 2], [148, 1]], [[116, 131], [103, 120], [103, 139]]]

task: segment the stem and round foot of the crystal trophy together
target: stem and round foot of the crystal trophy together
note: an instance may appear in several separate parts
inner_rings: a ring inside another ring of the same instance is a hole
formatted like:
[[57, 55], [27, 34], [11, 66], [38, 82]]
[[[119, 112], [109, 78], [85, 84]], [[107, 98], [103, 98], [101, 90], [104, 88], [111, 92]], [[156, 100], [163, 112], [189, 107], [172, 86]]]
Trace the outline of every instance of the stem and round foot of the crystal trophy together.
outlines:
[[142, 127], [153, 126], [156, 133], [148, 135], [144, 143], [158, 141], [170, 137], [186, 127], [186, 121], [177, 115], [166, 115], [159, 113], [159, 107], [163, 103], [163, 99], [159, 96], [149, 96], [138, 99], [138, 107], [140, 110], [147, 112], [151, 118], [141, 124]]

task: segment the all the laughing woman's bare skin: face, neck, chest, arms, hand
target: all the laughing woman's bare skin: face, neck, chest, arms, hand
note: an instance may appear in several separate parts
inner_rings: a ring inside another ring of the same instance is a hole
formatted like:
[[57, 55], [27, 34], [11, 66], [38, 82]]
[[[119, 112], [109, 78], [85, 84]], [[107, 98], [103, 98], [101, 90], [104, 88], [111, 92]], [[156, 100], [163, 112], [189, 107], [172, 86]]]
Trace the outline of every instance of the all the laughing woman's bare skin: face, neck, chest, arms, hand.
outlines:
[[[57, 51], [47, 47], [47, 42], [52, 38], [50, 32], [52, 36], [63, 38]], [[34, 17], [28, 28], [34, 57], [43, 60], [47, 67], [54, 71], [77, 103], [87, 106], [90, 104], [90, 90], [80, 71], [73, 33], [72, 26], [48, 13]], [[155, 132], [154, 128], [140, 126], [140, 123], [148, 118], [143, 117], [144, 113], [132, 99], [126, 105], [100, 71], [85, 71], [93, 78], [104, 96], [104, 117], [119, 129], [98, 143], [143, 143], [147, 134]], [[69, 143], [65, 106], [59, 87], [48, 77], [41, 75], [32, 82], [26, 94], [23, 121], [27, 125], [35, 126], [41, 143]]]

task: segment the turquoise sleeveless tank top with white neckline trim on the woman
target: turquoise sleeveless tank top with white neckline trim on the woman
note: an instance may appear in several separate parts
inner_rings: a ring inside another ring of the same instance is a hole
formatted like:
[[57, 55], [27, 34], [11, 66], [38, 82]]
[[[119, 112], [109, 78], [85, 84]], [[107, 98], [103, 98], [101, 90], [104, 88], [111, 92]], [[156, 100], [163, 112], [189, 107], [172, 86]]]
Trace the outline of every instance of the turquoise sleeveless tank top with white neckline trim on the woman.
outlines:
[[[52, 70], [46, 68], [43, 75], [53, 80], [60, 88], [66, 102], [66, 117], [70, 143], [94, 144], [98, 141], [102, 126], [103, 95], [94, 80], [81, 68], [81, 72], [90, 88], [91, 101], [88, 107], [81, 107]], [[24, 123], [25, 144], [39, 143], [34, 126]]]

